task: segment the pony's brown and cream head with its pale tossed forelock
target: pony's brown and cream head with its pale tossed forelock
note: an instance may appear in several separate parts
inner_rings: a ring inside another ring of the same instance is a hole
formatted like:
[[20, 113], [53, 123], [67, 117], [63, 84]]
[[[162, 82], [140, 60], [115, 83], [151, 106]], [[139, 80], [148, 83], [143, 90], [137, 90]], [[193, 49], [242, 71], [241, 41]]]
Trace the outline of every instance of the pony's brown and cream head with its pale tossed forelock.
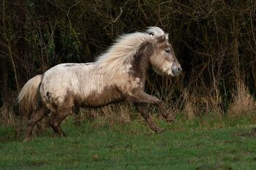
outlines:
[[181, 65], [173, 52], [173, 47], [161, 28], [149, 27], [147, 33], [154, 36], [154, 52], [150, 57], [151, 65], [158, 74], [177, 76], [181, 73]]

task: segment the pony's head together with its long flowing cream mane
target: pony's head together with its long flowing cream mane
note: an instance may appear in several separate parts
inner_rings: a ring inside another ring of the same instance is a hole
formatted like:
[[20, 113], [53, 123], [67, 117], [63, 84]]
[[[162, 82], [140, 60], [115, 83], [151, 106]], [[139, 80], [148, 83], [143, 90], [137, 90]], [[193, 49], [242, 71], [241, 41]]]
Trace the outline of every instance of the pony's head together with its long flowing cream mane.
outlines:
[[159, 74], [176, 76], [181, 72], [181, 65], [168, 42], [168, 34], [156, 26], [149, 27], [146, 32], [119, 36], [106, 53], [99, 55], [96, 64], [100, 72], [112, 78], [127, 72], [127, 66], [132, 66], [135, 55], [140, 52], [150, 58], [151, 66]]

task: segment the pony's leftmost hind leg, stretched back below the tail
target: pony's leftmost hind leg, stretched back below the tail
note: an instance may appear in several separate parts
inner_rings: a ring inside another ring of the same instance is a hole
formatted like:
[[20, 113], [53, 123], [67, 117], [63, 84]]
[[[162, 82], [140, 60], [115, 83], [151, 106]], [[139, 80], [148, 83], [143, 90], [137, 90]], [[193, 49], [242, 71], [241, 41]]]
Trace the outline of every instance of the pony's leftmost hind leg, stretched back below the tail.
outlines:
[[39, 122], [39, 120], [42, 120], [43, 117], [47, 115], [47, 109], [45, 107], [39, 107], [37, 108], [32, 114], [28, 122], [28, 129], [26, 131], [26, 139], [24, 141], [31, 140], [32, 132], [34, 125]]

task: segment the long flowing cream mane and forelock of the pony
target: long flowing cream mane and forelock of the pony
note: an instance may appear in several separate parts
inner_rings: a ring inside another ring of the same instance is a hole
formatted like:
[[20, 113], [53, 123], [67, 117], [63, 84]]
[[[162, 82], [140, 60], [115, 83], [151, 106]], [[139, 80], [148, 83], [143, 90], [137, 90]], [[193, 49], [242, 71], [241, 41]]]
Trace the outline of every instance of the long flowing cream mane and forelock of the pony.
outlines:
[[95, 62], [108, 77], [124, 72], [131, 66], [133, 56], [138, 52], [143, 42], [153, 42], [158, 36], [165, 34], [159, 27], [148, 27], [146, 32], [135, 32], [120, 36], [106, 53], [99, 55]]

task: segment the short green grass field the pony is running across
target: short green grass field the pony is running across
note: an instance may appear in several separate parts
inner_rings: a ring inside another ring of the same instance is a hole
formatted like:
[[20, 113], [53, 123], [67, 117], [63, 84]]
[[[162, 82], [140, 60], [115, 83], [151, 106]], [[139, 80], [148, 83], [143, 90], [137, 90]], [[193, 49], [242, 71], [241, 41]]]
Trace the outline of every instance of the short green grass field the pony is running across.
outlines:
[[255, 115], [177, 117], [163, 134], [141, 120], [112, 128], [97, 120], [62, 127], [64, 139], [51, 129], [21, 142], [15, 129], [1, 127], [0, 169], [256, 169]]

